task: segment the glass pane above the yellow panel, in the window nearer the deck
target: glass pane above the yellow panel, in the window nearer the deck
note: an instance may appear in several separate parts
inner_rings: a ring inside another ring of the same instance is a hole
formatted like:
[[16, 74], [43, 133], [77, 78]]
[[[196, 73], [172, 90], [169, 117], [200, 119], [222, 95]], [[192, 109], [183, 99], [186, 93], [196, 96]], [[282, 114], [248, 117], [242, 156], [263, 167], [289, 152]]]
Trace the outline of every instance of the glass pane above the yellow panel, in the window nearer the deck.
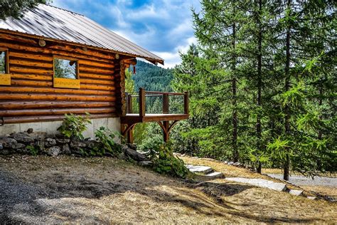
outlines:
[[76, 61], [55, 58], [54, 59], [55, 78], [76, 79], [77, 78], [76, 64], [77, 64]]

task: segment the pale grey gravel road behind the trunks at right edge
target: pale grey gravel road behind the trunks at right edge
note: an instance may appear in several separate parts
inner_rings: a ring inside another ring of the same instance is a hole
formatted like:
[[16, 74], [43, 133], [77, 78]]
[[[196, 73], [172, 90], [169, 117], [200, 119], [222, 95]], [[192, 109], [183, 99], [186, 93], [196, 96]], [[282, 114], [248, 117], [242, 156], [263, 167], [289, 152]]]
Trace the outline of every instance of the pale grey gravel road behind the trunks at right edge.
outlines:
[[[277, 179], [283, 179], [283, 174], [268, 174], [270, 177]], [[291, 175], [289, 177], [289, 182], [292, 184], [301, 186], [325, 186], [325, 187], [337, 187], [337, 177], [304, 177], [301, 175]]]

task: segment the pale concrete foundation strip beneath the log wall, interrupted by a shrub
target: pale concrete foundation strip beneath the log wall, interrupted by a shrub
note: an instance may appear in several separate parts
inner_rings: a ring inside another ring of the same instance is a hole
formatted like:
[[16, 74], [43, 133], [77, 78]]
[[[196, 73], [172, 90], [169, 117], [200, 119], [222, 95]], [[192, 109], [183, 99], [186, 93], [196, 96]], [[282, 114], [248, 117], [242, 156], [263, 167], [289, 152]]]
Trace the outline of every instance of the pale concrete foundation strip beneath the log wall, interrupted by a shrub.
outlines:
[[[83, 132], [84, 137], [95, 138], [95, 130], [100, 127], [109, 128], [109, 130], [120, 132], [119, 117], [92, 119], [92, 124], [87, 125], [87, 130]], [[0, 126], [0, 136], [9, 135], [14, 132], [26, 132], [29, 128], [33, 128], [34, 132], [46, 132], [48, 135], [58, 134], [58, 127], [62, 121], [51, 122], [27, 122], [17, 124], [5, 124]]]

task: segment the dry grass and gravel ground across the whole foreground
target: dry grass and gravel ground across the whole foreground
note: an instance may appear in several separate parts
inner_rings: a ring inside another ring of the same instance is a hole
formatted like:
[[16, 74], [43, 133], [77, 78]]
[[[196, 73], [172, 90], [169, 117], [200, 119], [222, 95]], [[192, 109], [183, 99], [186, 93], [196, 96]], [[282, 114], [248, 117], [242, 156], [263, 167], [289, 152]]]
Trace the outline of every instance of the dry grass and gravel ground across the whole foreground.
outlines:
[[224, 179], [186, 182], [107, 157], [15, 156], [0, 157], [0, 221], [333, 224], [337, 205]]

